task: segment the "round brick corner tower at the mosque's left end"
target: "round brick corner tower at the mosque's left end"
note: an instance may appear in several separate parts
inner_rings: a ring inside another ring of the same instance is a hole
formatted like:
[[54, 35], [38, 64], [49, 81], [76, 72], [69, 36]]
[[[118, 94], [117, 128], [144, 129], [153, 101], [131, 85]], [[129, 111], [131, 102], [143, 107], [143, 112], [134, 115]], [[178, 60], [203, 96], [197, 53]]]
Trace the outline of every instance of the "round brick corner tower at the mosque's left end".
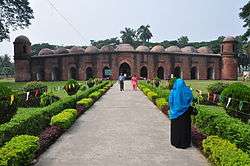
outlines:
[[18, 36], [14, 41], [15, 81], [31, 80], [31, 43], [26, 36]]

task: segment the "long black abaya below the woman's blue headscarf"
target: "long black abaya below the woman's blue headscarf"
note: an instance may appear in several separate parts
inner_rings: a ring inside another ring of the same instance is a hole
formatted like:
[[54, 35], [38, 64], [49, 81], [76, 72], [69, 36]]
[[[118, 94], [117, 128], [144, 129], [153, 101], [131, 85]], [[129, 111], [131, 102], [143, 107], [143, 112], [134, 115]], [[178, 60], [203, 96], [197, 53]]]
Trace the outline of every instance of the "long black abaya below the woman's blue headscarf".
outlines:
[[176, 148], [191, 146], [191, 117], [190, 112], [171, 120], [171, 144]]

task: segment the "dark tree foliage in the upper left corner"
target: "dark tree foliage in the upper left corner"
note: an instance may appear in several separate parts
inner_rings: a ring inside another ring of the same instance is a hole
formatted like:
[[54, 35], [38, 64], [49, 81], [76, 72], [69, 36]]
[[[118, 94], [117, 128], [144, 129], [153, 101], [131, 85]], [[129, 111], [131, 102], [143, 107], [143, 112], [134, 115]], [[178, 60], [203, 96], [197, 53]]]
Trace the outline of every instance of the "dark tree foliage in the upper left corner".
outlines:
[[28, 0], [0, 1], [0, 42], [9, 38], [10, 28], [17, 30], [29, 26], [34, 18]]

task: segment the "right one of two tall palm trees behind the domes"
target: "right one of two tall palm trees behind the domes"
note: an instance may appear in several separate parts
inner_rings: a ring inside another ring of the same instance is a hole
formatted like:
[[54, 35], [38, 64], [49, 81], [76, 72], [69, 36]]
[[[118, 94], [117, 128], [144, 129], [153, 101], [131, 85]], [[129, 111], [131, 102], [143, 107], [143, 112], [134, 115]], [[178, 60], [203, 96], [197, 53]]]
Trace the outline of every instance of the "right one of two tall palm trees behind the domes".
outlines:
[[137, 29], [137, 36], [143, 42], [143, 45], [145, 45], [146, 42], [149, 42], [149, 40], [153, 37], [149, 28], [149, 25], [141, 25], [140, 28]]

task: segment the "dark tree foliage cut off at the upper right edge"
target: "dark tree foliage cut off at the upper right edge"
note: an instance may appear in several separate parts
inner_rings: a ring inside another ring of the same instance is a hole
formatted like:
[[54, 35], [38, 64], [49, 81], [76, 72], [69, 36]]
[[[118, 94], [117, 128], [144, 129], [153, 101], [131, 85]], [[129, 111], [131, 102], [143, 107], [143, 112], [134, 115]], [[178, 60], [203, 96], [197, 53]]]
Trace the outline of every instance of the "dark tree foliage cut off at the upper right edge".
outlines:
[[245, 22], [243, 27], [247, 27], [247, 31], [243, 35], [246, 40], [247, 37], [250, 36], [250, 1], [248, 1], [248, 3], [243, 8], [241, 8], [241, 12], [239, 15], [240, 18]]

